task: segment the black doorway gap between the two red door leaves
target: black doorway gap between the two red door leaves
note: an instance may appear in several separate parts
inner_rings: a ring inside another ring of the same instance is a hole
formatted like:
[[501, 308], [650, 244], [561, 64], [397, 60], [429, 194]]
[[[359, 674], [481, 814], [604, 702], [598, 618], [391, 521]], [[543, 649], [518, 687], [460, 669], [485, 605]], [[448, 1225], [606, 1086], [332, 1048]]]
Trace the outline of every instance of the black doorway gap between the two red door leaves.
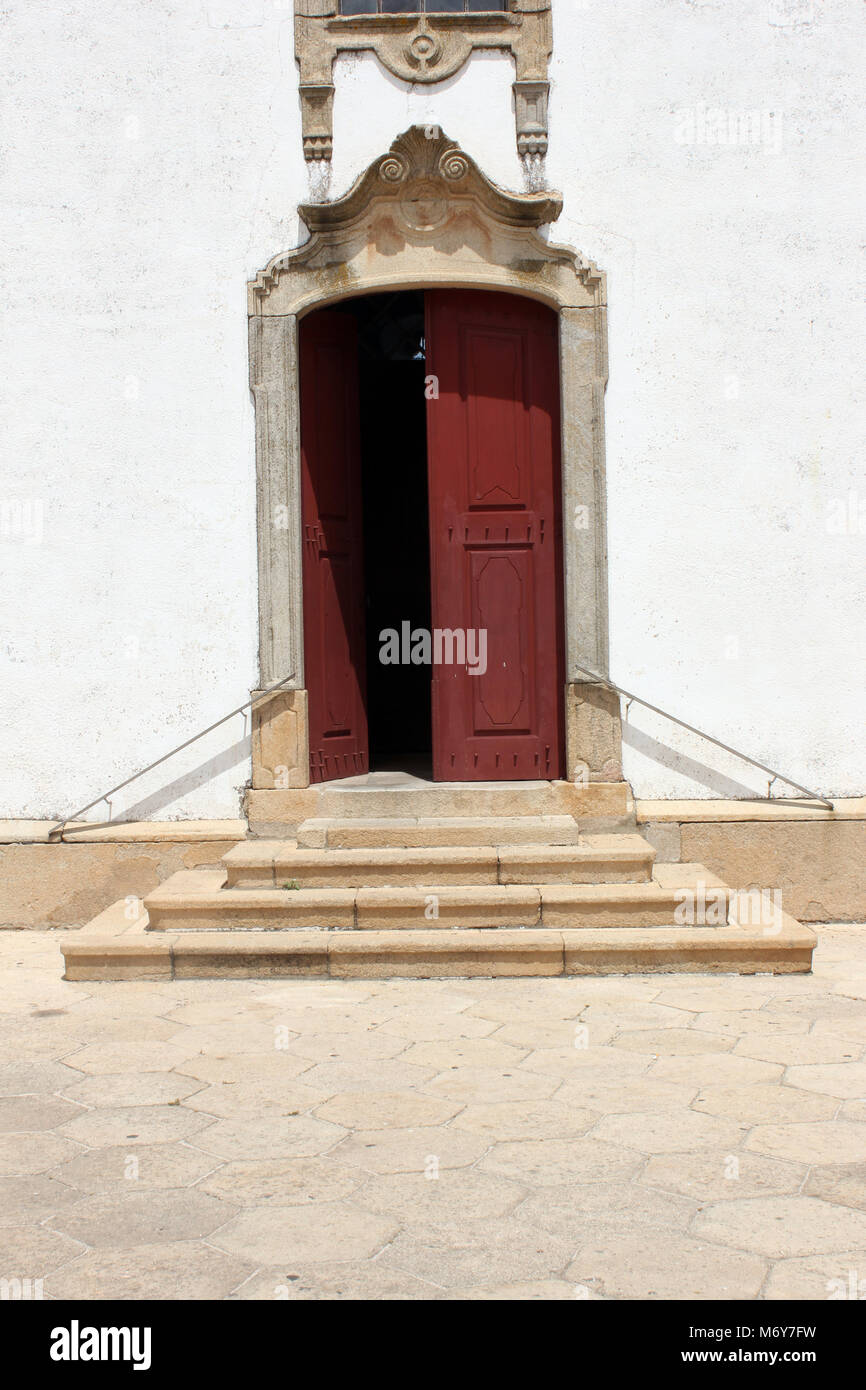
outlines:
[[346, 306], [360, 357], [367, 724], [371, 771], [432, 776], [431, 667], [382, 662], [382, 634], [431, 627], [424, 295]]

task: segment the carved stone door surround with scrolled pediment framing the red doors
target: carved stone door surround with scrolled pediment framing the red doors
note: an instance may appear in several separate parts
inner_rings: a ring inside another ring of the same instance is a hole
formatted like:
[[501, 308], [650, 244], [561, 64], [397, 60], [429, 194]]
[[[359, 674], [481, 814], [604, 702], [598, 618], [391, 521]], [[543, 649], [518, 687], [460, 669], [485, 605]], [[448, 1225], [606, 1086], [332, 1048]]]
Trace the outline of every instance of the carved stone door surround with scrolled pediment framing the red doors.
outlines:
[[253, 712], [253, 787], [309, 785], [297, 324], [364, 293], [466, 286], [527, 295], [560, 322], [566, 621], [566, 756], [574, 780], [621, 778], [619, 698], [607, 674], [605, 277], [539, 228], [562, 199], [509, 193], [438, 128], [413, 126], [334, 203], [299, 208], [310, 239], [249, 285], [256, 407], [260, 688], [292, 676]]

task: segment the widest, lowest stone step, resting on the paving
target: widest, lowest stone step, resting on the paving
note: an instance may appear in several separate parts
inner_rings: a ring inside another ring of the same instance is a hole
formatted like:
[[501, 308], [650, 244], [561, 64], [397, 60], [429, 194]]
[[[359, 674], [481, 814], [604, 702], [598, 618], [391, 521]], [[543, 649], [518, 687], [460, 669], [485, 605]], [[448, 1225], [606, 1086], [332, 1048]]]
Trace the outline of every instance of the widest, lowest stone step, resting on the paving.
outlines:
[[815, 933], [656, 927], [585, 931], [146, 931], [126, 902], [93, 931], [65, 933], [67, 980], [473, 979], [659, 973], [794, 974], [812, 967]]

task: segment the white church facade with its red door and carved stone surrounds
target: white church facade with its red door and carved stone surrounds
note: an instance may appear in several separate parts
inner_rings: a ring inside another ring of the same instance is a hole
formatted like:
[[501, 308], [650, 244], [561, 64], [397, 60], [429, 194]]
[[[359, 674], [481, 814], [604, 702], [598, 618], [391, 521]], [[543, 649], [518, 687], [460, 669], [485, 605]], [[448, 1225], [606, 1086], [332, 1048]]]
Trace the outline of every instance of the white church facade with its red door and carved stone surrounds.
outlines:
[[853, 805], [860, 21], [13, 3], [0, 812]]

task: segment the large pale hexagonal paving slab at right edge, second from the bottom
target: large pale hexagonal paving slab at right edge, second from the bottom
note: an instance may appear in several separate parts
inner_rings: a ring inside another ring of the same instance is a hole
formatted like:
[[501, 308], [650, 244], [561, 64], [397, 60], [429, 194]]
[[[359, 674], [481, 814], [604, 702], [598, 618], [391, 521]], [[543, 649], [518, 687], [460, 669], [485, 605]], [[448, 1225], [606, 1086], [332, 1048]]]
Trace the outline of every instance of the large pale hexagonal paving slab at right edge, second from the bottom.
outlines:
[[866, 1248], [866, 1215], [817, 1197], [752, 1197], [705, 1208], [695, 1218], [694, 1233], [720, 1245], [784, 1259]]

